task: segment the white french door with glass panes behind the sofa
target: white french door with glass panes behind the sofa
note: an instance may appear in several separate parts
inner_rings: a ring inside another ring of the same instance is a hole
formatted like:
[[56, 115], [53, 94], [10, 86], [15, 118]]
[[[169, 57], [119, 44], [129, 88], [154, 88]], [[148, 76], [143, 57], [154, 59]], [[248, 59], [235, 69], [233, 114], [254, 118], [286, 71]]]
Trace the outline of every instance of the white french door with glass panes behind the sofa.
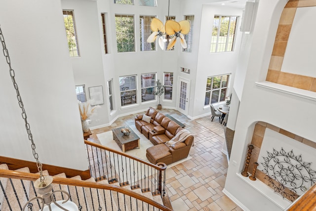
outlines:
[[189, 113], [190, 81], [179, 78], [178, 111], [184, 115]]

